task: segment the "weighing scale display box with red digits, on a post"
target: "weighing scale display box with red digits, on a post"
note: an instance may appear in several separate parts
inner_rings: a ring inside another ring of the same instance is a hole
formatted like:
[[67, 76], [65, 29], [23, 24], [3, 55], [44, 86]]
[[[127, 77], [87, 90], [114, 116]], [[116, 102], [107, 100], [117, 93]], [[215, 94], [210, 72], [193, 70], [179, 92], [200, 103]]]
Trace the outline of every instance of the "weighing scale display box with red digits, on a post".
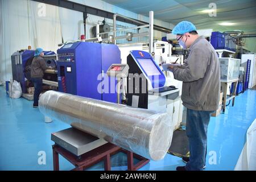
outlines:
[[127, 77], [129, 66], [128, 64], [112, 64], [106, 73], [108, 76], [114, 76], [116, 78]]

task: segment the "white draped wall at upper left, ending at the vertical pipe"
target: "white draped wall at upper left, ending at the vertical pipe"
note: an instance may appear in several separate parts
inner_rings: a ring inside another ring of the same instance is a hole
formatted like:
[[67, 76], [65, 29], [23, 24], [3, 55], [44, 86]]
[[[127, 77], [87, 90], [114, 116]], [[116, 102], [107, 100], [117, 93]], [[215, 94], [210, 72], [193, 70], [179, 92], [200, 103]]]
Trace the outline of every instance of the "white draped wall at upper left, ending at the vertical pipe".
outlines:
[[12, 78], [11, 55], [15, 51], [32, 46], [56, 52], [62, 39], [77, 40], [84, 34], [80, 12], [30, 0], [0, 3], [0, 81]]

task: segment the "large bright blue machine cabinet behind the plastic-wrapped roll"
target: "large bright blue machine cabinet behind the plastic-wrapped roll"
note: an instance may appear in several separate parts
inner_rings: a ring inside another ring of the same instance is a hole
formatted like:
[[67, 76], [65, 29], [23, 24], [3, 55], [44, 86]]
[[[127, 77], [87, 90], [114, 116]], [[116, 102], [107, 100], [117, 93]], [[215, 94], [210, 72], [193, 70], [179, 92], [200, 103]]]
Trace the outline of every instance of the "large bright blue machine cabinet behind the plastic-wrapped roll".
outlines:
[[120, 51], [116, 45], [68, 43], [57, 50], [57, 55], [60, 92], [117, 102], [117, 93], [110, 88], [111, 83], [116, 85], [115, 78], [104, 74], [111, 64], [121, 63]]

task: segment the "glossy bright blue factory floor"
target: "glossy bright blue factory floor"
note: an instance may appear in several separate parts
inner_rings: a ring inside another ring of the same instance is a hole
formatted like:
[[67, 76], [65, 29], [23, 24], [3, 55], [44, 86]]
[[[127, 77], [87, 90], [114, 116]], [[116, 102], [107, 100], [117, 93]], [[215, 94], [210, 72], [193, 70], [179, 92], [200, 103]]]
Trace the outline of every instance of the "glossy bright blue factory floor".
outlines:
[[[256, 90], [247, 90], [236, 97], [234, 107], [211, 117], [208, 129], [206, 170], [233, 170], [246, 140], [246, 131], [256, 118]], [[53, 121], [44, 123], [39, 109], [24, 98], [10, 99], [0, 86], [0, 170], [52, 170], [51, 133], [69, 125]], [[39, 152], [46, 152], [46, 164], [39, 164]], [[126, 156], [112, 157], [112, 170], [125, 170]], [[180, 158], [167, 154], [159, 162], [151, 161], [141, 170], [175, 170], [183, 166]], [[72, 169], [72, 164], [60, 156], [60, 169]], [[90, 170], [102, 170], [98, 163]]]

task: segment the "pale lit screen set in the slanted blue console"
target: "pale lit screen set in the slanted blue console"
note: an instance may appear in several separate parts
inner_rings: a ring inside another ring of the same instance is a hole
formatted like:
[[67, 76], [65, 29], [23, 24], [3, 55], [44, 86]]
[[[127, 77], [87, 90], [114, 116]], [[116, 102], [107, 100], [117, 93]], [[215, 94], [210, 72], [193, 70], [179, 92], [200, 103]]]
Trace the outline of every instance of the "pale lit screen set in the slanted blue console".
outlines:
[[161, 75], [156, 65], [153, 63], [151, 59], [137, 59], [141, 67], [146, 72], [147, 76], [152, 75]]

